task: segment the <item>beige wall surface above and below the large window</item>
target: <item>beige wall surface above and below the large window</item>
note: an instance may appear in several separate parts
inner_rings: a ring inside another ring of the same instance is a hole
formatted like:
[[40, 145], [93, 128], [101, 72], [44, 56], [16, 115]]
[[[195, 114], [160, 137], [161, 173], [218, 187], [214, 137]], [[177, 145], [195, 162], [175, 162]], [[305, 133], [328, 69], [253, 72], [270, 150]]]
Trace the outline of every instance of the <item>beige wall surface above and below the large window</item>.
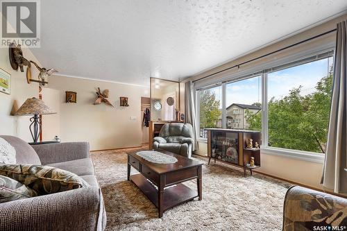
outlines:
[[[243, 55], [240, 58], [232, 60], [230, 62], [226, 62], [223, 65], [219, 65], [218, 67], [214, 67], [212, 69], [208, 69], [207, 71], [203, 71], [192, 78], [188, 78], [187, 80], [196, 80], [203, 76], [208, 76], [214, 72], [220, 71], [222, 69], [226, 69], [228, 67], [232, 67], [241, 62], [245, 62], [247, 60], [251, 60], [252, 58], [257, 58], [261, 55], [269, 53], [271, 51], [276, 51], [282, 47], [288, 46], [290, 44], [294, 44], [296, 42], [303, 41], [307, 38], [313, 37], [314, 35], [319, 35], [324, 33], [325, 31], [330, 31], [333, 28], [336, 28], [337, 22], [341, 22], [347, 19], [347, 15], [343, 15], [336, 19], [332, 19], [330, 22], [325, 22], [319, 26], [314, 28], [310, 28], [307, 31], [303, 31], [302, 33], [298, 33], [291, 37], [287, 37], [285, 40], [281, 40], [279, 42], [273, 43], [269, 46], [264, 46], [264, 48], [259, 49], [257, 51], [253, 51], [246, 55]], [[273, 60], [279, 60], [289, 55], [293, 55], [297, 52], [300, 52], [302, 49], [314, 49], [319, 43], [331, 42], [335, 41], [335, 34], [331, 33], [325, 37], [321, 37], [319, 40], [314, 40], [312, 42], [305, 43], [301, 46], [296, 46], [292, 49], [288, 49], [285, 52], [276, 53], [274, 55], [269, 56], [266, 59], [258, 60], [256, 62], [251, 62], [249, 65], [244, 65], [240, 67], [240, 69], [231, 69], [230, 71], [225, 71], [217, 76], [213, 76], [214, 79], [225, 78], [226, 76], [232, 76], [232, 74], [237, 74], [244, 69], [249, 69], [257, 65], [262, 65], [262, 63], [271, 62]], [[186, 82], [187, 80], [183, 81]], [[184, 99], [182, 99], [184, 101]], [[207, 154], [207, 144], [204, 142], [199, 142], [200, 151], [198, 154], [204, 155]], [[261, 157], [261, 168], [257, 169], [262, 173], [266, 173], [272, 176], [277, 176], [279, 178], [283, 178], [286, 180], [291, 180], [294, 182], [298, 182], [304, 185], [308, 185], [310, 187], [315, 187], [318, 189], [322, 189], [320, 185], [321, 173], [323, 169], [323, 163], [316, 162], [308, 162], [304, 160], [296, 160], [289, 157], [283, 157], [278, 155], [269, 155], [266, 153], [262, 153]]]

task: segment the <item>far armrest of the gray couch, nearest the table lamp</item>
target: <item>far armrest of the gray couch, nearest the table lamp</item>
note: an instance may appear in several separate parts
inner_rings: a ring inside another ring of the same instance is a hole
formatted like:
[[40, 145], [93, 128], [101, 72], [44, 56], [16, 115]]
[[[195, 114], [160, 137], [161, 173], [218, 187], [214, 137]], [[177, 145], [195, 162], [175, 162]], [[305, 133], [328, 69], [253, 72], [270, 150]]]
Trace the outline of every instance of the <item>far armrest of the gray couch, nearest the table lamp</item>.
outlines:
[[90, 157], [88, 142], [32, 145], [42, 164], [53, 164]]

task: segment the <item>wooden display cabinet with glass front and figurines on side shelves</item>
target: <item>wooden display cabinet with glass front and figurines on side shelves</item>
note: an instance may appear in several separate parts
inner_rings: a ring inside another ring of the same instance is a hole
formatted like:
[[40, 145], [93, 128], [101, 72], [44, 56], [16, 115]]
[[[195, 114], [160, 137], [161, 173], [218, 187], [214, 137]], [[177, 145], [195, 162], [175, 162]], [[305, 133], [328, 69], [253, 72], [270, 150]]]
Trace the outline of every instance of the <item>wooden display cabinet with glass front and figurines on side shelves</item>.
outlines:
[[[229, 164], [242, 166], [244, 176], [246, 170], [260, 167], [260, 148], [255, 148], [255, 142], [261, 144], [261, 135], [253, 130], [234, 130], [223, 128], [206, 128], [208, 130], [208, 164], [211, 159], [220, 160]], [[246, 148], [248, 139], [253, 139], [253, 148]], [[251, 157], [254, 157], [254, 166], [249, 166]]]

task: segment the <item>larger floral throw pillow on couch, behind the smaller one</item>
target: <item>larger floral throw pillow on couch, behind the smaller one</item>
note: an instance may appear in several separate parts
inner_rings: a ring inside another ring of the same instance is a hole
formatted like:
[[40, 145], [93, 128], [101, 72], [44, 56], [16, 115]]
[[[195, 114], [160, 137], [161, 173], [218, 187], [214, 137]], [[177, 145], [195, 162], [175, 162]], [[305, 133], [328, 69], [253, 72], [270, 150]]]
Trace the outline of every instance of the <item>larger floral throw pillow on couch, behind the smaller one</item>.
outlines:
[[74, 173], [35, 164], [0, 164], [0, 175], [21, 182], [39, 196], [89, 186]]

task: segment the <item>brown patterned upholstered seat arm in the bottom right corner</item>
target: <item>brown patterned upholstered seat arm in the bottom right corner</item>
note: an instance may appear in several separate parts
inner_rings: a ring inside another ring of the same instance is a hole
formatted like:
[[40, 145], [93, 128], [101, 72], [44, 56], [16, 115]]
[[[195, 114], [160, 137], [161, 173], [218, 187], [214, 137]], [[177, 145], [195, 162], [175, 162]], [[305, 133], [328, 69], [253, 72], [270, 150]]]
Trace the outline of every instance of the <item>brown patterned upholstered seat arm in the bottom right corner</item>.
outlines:
[[346, 207], [346, 198], [299, 186], [290, 187], [285, 196], [282, 230], [314, 230], [314, 226], [346, 225], [347, 218], [341, 218]]

